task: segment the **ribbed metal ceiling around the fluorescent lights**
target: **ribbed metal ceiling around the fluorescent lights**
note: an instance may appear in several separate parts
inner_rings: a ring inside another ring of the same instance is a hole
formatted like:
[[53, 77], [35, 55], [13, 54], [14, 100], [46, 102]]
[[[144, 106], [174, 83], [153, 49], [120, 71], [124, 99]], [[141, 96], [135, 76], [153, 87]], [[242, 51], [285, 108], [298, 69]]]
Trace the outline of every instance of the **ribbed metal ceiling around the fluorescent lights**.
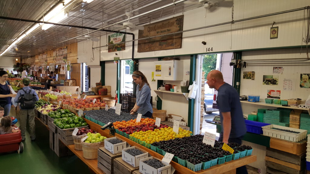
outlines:
[[[92, 28], [102, 28], [126, 20], [125, 12], [131, 12], [131, 16], [136, 16], [167, 4], [178, 2], [173, 0], [94, 0], [91, 3], [82, 2], [82, 0], [72, 0], [71, 2], [73, 1], [75, 3], [74, 7], [66, 9], [67, 11], [72, 9], [69, 11], [68, 17], [58, 23]], [[63, 0], [1, 0], [0, 18], [11, 17], [40, 20], [52, 7], [62, 2]], [[202, 4], [199, 4], [198, 0], [188, 0], [131, 19], [130, 22], [136, 25], [143, 25], [201, 6]], [[20, 33], [25, 32], [34, 24], [36, 23], [0, 19], [0, 53], [6, 50], [7, 46], [11, 45], [19, 37]], [[109, 27], [104, 29], [117, 30], [119, 28]], [[65, 40], [89, 31], [87, 29], [59, 25], [53, 25], [47, 30], [42, 30], [39, 27], [3, 54], [0, 59], [9, 58], [10, 56], [31, 57], [42, 54], [48, 50], [81, 41], [78, 39]], [[105, 34], [106, 32], [96, 31], [90, 35], [96, 37]]]

